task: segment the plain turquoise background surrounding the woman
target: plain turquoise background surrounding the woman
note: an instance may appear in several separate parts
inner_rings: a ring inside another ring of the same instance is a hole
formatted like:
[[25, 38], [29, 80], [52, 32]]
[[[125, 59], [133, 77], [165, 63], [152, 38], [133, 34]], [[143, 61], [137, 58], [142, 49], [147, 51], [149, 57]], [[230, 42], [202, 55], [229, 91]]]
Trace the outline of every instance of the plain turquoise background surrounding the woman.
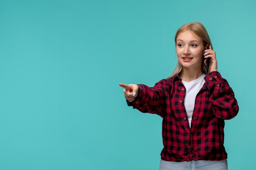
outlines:
[[0, 0], [0, 169], [157, 170], [162, 119], [119, 83], [153, 86], [176, 65], [174, 36], [206, 27], [238, 116], [230, 170], [255, 169], [253, 0]]

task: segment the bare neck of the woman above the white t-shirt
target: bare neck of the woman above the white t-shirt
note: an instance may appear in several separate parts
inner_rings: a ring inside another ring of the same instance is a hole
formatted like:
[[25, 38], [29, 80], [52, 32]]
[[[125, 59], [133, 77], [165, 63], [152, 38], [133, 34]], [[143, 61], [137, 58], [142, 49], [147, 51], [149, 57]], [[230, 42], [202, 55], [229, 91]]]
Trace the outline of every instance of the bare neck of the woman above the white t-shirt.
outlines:
[[182, 71], [180, 73], [180, 78], [185, 82], [190, 82], [194, 79], [198, 79], [200, 76], [202, 76], [204, 73], [201, 69], [193, 69], [193, 68], [182, 68]]

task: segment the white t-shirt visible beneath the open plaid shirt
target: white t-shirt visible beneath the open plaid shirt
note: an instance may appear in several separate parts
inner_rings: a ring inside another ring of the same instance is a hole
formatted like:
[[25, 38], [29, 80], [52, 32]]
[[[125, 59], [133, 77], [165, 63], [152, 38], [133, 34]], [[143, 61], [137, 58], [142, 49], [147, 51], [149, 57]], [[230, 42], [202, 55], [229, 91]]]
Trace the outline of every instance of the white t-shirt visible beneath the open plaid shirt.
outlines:
[[192, 120], [193, 110], [194, 110], [194, 106], [195, 106], [195, 97], [198, 94], [198, 92], [200, 91], [200, 89], [202, 88], [202, 86], [204, 85], [204, 82], [205, 82], [204, 77], [205, 76], [206, 75], [203, 74], [198, 79], [194, 79], [190, 82], [184, 82], [182, 80], [182, 83], [186, 88], [186, 96], [185, 96], [185, 100], [184, 100], [184, 105], [185, 105], [186, 113], [187, 113], [188, 120], [189, 120], [189, 127], [191, 127], [191, 120]]

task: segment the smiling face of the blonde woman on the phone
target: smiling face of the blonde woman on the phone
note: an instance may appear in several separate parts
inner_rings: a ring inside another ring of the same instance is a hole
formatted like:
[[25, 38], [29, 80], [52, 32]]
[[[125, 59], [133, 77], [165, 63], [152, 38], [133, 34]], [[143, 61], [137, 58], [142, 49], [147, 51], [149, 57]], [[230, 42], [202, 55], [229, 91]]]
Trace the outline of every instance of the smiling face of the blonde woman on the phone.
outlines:
[[192, 31], [183, 31], [177, 36], [176, 52], [183, 68], [201, 69], [205, 49], [202, 40]]

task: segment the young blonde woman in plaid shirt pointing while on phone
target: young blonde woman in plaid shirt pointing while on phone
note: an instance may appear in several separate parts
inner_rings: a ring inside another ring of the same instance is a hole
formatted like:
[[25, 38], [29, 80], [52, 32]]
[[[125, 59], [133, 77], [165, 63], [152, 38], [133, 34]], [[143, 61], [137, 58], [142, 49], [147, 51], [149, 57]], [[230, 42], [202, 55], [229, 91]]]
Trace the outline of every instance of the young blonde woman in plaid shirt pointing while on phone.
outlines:
[[234, 92], [217, 71], [202, 24], [183, 25], [175, 43], [178, 63], [170, 77], [152, 88], [119, 85], [128, 106], [163, 118], [160, 170], [227, 170], [224, 120], [238, 113]]

